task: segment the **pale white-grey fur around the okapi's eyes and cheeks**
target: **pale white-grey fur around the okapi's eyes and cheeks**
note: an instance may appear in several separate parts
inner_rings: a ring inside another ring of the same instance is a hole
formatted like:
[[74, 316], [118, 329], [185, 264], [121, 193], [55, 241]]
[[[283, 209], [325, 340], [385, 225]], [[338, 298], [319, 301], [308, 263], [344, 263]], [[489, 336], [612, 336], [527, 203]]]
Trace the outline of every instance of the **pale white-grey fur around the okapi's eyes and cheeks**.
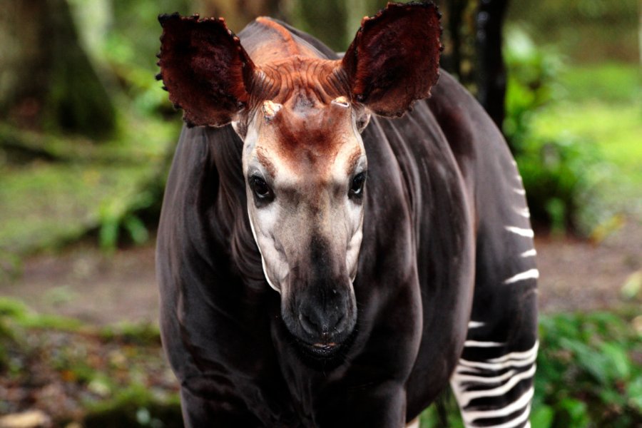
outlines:
[[[347, 97], [336, 98], [332, 104], [350, 108]], [[345, 251], [347, 275], [350, 280], [355, 280], [362, 242], [363, 204], [349, 197], [349, 190], [355, 176], [367, 170], [367, 160], [355, 125], [355, 113], [349, 111], [332, 113], [340, 114], [346, 120], [333, 134], [333, 138], [338, 139], [332, 156], [320, 158], [318, 162], [321, 163], [317, 166], [284, 157], [280, 151], [282, 143], [277, 139], [281, 138], [280, 128], [272, 123], [277, 114], [292, 114], [283, 108], [279, 103], [265, 101], [255, 112], [243, 145], [243, 173], [247, 180], [250, 228], [260, 251], [263, 273], [270, 287], [287, 295], [283, 286], [287, 284], [291, 270], [297, 267], [298, 258], [307, 254], [303, 246], [307, 245], [313, 232], [330, 240], [335, 250]], [[284, 116], [284, 119], [288, 117]], [[360, 157], [355, 159], [359, 153]], [[327, 169], [324, 169], [324, 162]], [[314, 175], [316, 171], [325, 175], [320, 176], [317, 187], [310, 188], [310, 183], [317, 177]], [[262, 205], [255, 199], [251, 187], [255, 177], [261, 178], [272, 189], [274, 196], [269, 203]], [[345, 188], [345, 193], [337, 194], [337, 186]], [[308, 206], [320, 208], [322, 215], [312, 218], [314, 211]]]

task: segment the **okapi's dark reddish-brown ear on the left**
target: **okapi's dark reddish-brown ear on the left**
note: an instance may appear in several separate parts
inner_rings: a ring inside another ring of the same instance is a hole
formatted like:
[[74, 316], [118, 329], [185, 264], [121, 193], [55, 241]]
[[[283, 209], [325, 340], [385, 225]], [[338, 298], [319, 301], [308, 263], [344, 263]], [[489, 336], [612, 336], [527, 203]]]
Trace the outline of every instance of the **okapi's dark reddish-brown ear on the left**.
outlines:
[[158, 66], [175, 107], [188, 126], [223, 126], [250, 99], [255, 66], [225, 20], [198, 15], [158, 16], [163, 27]]

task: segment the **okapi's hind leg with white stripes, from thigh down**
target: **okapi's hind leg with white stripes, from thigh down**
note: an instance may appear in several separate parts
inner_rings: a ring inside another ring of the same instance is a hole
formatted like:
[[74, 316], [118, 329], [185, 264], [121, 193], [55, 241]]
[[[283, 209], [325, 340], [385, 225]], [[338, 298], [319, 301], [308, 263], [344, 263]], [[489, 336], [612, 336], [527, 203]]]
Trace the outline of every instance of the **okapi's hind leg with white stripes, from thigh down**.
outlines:
[[530, 427], [539, 270], [524, 189], [515, 177], [506, 190], [511, 196], [479, 228], [472, 320], [450, 380], [466, 427]]

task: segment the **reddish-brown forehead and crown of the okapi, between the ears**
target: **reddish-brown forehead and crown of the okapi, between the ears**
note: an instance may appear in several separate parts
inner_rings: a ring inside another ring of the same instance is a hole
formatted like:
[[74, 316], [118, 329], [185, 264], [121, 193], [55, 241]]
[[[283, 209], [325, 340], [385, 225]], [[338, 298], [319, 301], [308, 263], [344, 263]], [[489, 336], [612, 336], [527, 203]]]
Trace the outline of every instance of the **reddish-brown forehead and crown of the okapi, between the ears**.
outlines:
[[261, 68], [267, 85], [262, 97], [282, 104], [270, 121], [258, 118], [263, 161], [267, 155], [301, 173], [324, 174], [346, 143], [358, 145], [351, 108], [332, 103], [350, 96], [340, 61], [295, 54]]

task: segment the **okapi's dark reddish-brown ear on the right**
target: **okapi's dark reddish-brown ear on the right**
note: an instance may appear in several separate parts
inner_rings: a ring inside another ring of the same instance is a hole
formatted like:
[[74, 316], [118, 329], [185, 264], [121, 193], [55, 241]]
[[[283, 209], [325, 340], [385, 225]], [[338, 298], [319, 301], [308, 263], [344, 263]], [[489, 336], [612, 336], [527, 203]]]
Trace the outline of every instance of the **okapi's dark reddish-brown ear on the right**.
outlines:
[[439, 78], [439, 11], [432, 3], [389, 3], [361, 21], [345, 53], [352, 98], [380, 116], [402, 116]]

